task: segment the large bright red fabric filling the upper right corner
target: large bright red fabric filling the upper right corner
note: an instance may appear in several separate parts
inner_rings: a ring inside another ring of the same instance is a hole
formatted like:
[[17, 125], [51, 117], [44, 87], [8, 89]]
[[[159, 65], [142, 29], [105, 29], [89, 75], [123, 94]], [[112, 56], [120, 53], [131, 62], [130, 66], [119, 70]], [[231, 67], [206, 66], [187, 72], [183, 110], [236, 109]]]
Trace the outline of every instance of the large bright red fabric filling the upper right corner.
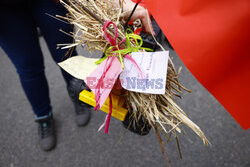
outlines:
[[145, 0], [187, 68], [250, 127], [250, 1]]

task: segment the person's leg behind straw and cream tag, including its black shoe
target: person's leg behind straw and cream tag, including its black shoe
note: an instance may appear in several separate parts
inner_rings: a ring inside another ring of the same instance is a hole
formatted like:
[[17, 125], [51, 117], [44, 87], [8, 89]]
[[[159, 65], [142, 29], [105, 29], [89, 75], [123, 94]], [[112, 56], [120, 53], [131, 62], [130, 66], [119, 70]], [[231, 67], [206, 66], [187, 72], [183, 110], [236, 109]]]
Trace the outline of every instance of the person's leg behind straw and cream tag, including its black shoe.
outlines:
[[[42, 34], [47, 42], [51, 55], [56, 63], [67, 59], [69, 56], [75, 56], [76, 51], [73, 51], [71, 55], [65, 55], [67, 50], [56, 49], [57, 44], [60, 43], [73, 43], [73, 38], [60, 32], [59, 29], [69, 33], [73, 32], [73, 26], [64, 22], [58, 21], [49, 15], [61, 15], [65, 16], [67, 11], [55, 0], [37, 0], [34, 3], [33, 8], [34, 18], [40, 27]], [[46, 14], [47, 13], [47, 14]], [[84, 81], [73, 78], [67, 72], [62, 70], [62, 74], [67, 82], [68, 93], [73, 100], [76, 111], [76, 123], [79, 126], [84, 126], [90, 119], [90, 108], [85, 103], [80, 103], [78, 99], [72, 98], [76, 91], [79, 91]], [[80, 92], [77, 94], [79, 95]]]

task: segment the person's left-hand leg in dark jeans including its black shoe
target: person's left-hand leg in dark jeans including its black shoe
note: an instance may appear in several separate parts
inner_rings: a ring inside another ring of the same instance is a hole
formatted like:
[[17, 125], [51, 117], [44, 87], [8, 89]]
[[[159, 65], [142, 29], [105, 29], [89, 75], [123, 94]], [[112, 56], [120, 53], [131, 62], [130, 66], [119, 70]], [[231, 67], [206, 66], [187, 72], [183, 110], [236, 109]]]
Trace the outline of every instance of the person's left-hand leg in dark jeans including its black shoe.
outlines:
[[37, 116], [39, 142], [43, 150], [55, 147], [55, 129], [48, 84], [36, 25], [26, 5], [0, 10], [0, 46], [15, 65], [22, 87]]

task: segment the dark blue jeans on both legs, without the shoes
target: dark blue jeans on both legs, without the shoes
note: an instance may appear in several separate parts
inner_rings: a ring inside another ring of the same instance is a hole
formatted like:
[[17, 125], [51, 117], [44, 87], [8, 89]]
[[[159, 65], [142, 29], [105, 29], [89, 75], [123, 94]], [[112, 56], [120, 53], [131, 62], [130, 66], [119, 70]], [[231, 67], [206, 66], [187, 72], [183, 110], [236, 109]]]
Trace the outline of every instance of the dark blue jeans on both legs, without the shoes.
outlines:
[[[64, 16], [66, 10], [55, 0], [19, 0], [17, 4], [0, 4], [0, 46], [16, 67], [24, 92], [38, 117], [48, 115], [51, 105], [37, 27], [56, 63], [65, 59], [66, 53], [66, 50], [56, 49], [57, 44], [73, 42], [71, 37], [59, 32], [59, 29], [72, 32], [72, 26], [46, 13]], [[71, 76], [64, 71], [62, 74], [68, 83]]]

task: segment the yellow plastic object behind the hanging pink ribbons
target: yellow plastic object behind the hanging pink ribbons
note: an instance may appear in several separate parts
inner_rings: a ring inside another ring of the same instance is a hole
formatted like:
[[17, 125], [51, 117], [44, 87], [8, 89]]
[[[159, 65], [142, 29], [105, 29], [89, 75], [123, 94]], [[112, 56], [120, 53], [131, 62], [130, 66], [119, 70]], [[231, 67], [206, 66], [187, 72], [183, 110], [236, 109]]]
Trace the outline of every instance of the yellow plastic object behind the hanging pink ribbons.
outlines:
[[[113, 94], [111, 96], [112, 96], [112, 116], [121, 121], [124, 121], [128, 113], [128, 110], [122, 107], [125, 102], [124, 98], [121, 98]], [[94, 107], [96, 106], [95, 95], [93, 92], [83, 90], [79, 95], [79, 100], [91, 106]], [[109, 98], [107, 98], [107, 100], [105, 101], [100, 110], [109, 113]]]

